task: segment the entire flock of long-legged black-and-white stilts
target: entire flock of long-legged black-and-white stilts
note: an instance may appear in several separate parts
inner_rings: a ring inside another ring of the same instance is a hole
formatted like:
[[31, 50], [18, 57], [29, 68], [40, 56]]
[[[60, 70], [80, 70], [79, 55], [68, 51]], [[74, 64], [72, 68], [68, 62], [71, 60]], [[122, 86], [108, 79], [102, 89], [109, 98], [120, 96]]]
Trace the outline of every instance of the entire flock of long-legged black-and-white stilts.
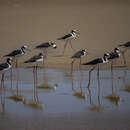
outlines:
[[[125, 52], [127, 51], [128, 48], [130, 48], [130, 42], [118, 45], [119, 47], [124, 48], [123, 51], [120, 51], [119, 48], [115, 48], [113, 52], [105, 53], [103, 55], [103, 57], [95, 58], [92, 61], [89, 61], [89, 62], [86, 62], [86, 63], [81, 63], [81, 59], [83, 57], [85, 57], [86, 55], [88, 55], [88, 52], [87, 52], [86, 48], [75, 52], [75, 49], [72, 46], [72, 39], [77, 38], [78, 34], [79, 34], [79, 32], [77, 30], [72, 30], [69, 34], [62, 36], [62, 37], [58, 38], [57, 40], [62, 40], [62, 41], [65, 42], [62, 55], [64, 55], [65, 49], [66, 49], [68, 44], [70, 45], [70, 47], [74, 51], [74, 55], [71, 57], [71, 59], [72, 59], [71, 75], [73, 74], [73, 64], [74, 64], [76, 59], [79, 59], [79, 70], [81, 69], [81, 65], [92, 66], [92, 69], [89, 70], [88, 87], [90, 86], [91, 72], [96, 67], [97, 67], [97, 70], [98, 70], [97, 71], [97, 79], [99, 80], [99, 67], [100, 67], [101, 64], [108, 63], [109, 61], [111, 62], [111, 73], [112, 73], [112, 77], [113, 77], [113, 62], [116, 61], [116, 59], [118, 59], [120, 57], [120, 53], [123, 56], [124, 65], [126, 65]], [[42, 53], [39, 53], [38, 55], [35, 55], [32, 58], [30, 58], [30, 59], [28, 59], [24, 62], [24, 63], [28, 63], [28, 64], [34, 64], [33, 75], [34, 75], [34, 96], [35, 96], [35, 100], [38, 100], [37, 95], [36, 95], [36, 86], [37, 86], [37, 82], [38, 82], [37, 67], [38, 67], [39, 62], [43, 62], [43, 64], [44, 64], [44, 59], [47, 57], [47, 54], [48, 54], [48, 48], [56, 49], [57, 45], [56, 45], [56, 43], [53, 43], [53, 42], [46, 42], [46, 43], [42, 43], [40, 45], [36, 45], [35, 49], [41, 49]], [[4, 89], [4, 74], [9, 69], [11, 69], [11, 86], [12, 86], [12, 73], [13, 73], [12, 72], [12, 65], [13, 65], [12, 63], [15, 63], [15, 67], [16, 67], [16, 70], [17, 70], [16, 88], [17, 88], [17, 95], [18, 95], [18, 81], [19, 81], [18, 58], [23, 56], [26, 53], [26, 51], [31, 51], [31, 50], [29, 50], [28, 47], [26, 45], [24, 45], [20, 49], [14, 50], [11, 53], [4, 56], [4, 57], [8, 57], [8, 58], [7, 58], [6, 63], [0, 64], [0, 73], [2, 74], [1, 89], [0, 89], [1, 92], [2, 92], [2, 89]]]

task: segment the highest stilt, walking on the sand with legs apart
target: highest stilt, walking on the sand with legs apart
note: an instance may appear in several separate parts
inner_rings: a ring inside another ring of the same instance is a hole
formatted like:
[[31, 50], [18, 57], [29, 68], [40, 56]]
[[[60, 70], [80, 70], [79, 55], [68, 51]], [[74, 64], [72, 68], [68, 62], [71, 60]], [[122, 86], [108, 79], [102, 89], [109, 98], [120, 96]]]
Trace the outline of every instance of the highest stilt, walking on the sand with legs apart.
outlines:
[[68, 43], [70, 44], [72, 50], [74, 50], [74, 48], [72, 47], [72, 44], [71, 44], [71, 40], [76, 38], [77, 34], [78, 34], [78, 31], [73, 29], [69, 34], [67, 34], [67, 35], [57, 39], [57, 40], [64, 40], [64, 41], [66, 41], [66, 43], [64, 45], [63, 55], [64, 55], [64, 52], [65, 52], [65, 49], [66, 49]]

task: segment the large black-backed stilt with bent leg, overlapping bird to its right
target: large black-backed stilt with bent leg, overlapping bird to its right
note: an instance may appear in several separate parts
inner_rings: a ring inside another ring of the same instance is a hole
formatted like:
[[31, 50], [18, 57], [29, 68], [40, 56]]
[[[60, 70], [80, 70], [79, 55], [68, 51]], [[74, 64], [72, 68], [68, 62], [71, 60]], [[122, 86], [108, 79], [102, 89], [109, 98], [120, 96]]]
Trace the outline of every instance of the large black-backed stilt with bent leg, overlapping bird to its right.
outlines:
[[89, 71], [89, 82], [88, 82], [88, 87], [90, 86], [90, 80], [91, 80], [91, 72], [98, 66], [98, 71], [97, 71], [97, 78], [99, 81], [99, 65], [100, 64], [105, 64], [108, 63], [108, 57], [110, 55], [108, 53], [105, 53], [103, 58], [96, 58], [90, 62], [83, 63], [82, 65], [92, 65], [94, 66], [90, 71]]

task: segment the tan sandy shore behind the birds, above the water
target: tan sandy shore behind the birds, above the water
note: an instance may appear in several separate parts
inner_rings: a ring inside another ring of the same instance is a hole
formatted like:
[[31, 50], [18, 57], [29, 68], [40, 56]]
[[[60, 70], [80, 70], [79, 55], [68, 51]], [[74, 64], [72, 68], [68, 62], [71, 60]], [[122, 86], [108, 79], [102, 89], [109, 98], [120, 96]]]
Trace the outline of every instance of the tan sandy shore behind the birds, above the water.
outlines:
[[[68, 46], [64, 57], [64, 42], [56, 39], [71, 29], [80, 30], [79, 38], [72, 41], [78, 51], [87, 48], [89, 54], [83, 62], [102, 57], [118, 44], [129, 41], [130, 3], [128, 1], [1, 1], [0, 4], [0, 56], [22, 45], [28, 45], [32, 52], [20, 58], [19, 65], [27, 58], [40, 52], [33, 48], [41, 42], [57, 43], [57, 50], [49, 50], [46, 64], [49, 68], [70, 68], [74, 52]], [[33, 42], [32, 42], [33, 41]], [[128, 51], [126, 58], [130, 56]], [[122, 65], [122, 61], [119, 60]], [[119, 65], [118, 64], [118, 65]], [[130, 62], [127, 61], [128, 69]], [[78, 68], [78, 62], [75, 65]], [[85, 67], [86, 68], [86, 67]], [[108, 68], [105, 66], [105, 68]]]

